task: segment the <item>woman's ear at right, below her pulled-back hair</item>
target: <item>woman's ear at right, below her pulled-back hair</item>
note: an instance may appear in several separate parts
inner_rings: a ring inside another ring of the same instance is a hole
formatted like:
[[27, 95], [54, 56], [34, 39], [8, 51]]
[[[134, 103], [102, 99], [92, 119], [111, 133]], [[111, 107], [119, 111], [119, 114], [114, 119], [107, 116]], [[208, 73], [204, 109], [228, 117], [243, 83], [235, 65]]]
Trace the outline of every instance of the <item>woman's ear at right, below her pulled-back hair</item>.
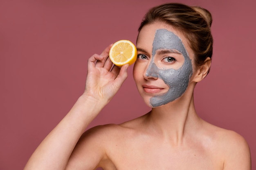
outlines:
[[205, 76], [207, 76], [209, 70], [211, 67], [211, 58], [207, 57], [202, 65], [199, 66], [197, 73], [195, 74], [194, 81], [200, 82], [202, 79], [204, 79]]

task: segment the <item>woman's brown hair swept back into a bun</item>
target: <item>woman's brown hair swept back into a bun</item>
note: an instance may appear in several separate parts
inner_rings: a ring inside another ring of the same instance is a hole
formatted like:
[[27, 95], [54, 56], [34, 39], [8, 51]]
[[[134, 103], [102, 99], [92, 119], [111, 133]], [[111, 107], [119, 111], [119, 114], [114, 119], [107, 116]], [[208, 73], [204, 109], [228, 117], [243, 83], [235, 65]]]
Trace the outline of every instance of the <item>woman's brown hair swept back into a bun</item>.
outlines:
[[180, 3], [162, 4], [150, 9], [138, 31], [153, 22], [165, 22], [182, 31], [195, 53], [195, 65], [200, 66], [207, 57], [212, 57], [211, 13], [201, 7], [190, 7]]

